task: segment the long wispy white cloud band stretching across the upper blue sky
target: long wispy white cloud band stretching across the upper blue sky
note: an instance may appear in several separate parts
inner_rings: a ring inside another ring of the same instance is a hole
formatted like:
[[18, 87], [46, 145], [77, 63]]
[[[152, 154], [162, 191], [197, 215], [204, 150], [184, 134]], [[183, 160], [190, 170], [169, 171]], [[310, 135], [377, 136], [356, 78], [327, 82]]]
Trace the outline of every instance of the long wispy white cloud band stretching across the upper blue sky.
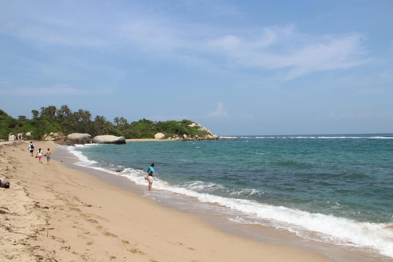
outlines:
[[[84, 17], [84, 12], [78, 10], [73, 19], [56, 12], [40, 16], [34, 15], [35, 12], [28, 8], [22, 11], [24, 19], [20, 18], [22, 15], [6, 16], [6, 11], [0, 11], [0, 32], [35, 44], [99, 47], [109, 51], [121, 47], [122, 51], [125, 50], [122, 55], [142, 50], [145, 55], [154, 58], [203, 68], [209, 65], [213, 68], [285, 72], [281, 74], [281, 81], [312, 72], [351, 68], [370, 61], [362, 47], [366, 36], [356, 32], [307, 35], [300, 33], [292, 24], [283, 27], [217, 28], [178, 23], [171, 17], [154, 13], [144, 15], [138, 9], [128, 16], [116, 17], [105, 23], [95, 19], [104, 15], [103, 10], [94, 10], [97, 14], [93, 17]], [[122, 11], [112, 10], [114, 14]], [[236, 8], [230, 7], [225, 13], [235, 15]], [[1, 18], [2, 15], [6, 18]]]

